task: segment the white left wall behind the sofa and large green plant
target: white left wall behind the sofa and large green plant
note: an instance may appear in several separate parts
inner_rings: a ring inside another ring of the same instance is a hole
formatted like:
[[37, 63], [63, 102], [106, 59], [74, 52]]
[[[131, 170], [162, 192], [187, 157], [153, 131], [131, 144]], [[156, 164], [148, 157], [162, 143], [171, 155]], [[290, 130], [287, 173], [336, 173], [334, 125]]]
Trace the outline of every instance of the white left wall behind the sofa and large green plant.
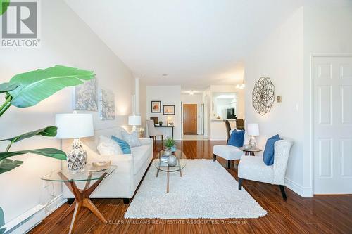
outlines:
[[[0, 49], [0, 83], [13, 75], [68, 65], [94, 70], [99, 87], [115, 93], [117, 117], [114, 121], [100, 121], [94, 114], [95, 129], [127, 123], [131, 112], [132, 76], [130, 70], [94, 34], [63, 1], [40, 1], [42, 13], [42, 47], [37, 49]], [[0, 98], [4, 98], [0, 95]], [[0, 118], [0, 138], [8, 138], [26, 131], [54, 125], [56, 113], [72, 112], [72, 89], [64, 89], [32, 108], [11, 107]], [[11, 150], [60, 148], [55, 138], [35, 137], [16, 143]], [[4, 150], [4, 144], [1, 145]], [[61, 193], [61, 183], [42, 188], [40, 178], [60, 168], [60, 161], [37, 155], [12, 157], [25, 161], [23, 165], [0, 174], [0, 207], [6, 223], [37, 204], [48, 202], [50, 193]]]

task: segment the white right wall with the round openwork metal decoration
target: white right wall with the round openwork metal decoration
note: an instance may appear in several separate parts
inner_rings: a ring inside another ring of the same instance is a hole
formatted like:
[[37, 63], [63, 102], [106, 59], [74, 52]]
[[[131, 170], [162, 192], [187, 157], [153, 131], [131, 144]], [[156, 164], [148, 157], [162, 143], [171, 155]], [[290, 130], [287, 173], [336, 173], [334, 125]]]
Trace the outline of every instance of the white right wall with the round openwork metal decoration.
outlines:
[[[258, 123], [258, 147], [264, 149], [267, 138], [275, 134], [293, 138], [287, 167], [287, 179], [303, 188], [303, 8], [292, 13], [274, 32], [254, 50], [246, 60], [246, 123]], [[272, 105], [264, 116], [252, 105], [254, 84], [260, 77], [270, 77], [275, 96], [282, 103]]]

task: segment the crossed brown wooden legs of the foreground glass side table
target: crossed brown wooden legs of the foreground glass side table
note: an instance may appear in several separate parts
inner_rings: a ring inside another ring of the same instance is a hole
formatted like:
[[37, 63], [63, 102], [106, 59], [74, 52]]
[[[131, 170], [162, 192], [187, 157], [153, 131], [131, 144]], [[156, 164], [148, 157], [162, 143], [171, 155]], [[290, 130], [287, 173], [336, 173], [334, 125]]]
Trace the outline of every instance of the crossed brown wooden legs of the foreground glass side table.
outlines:
[[[84, 189], [79, 189], [77, 188], [77, 185], [74, 181], [68, 181], [67, 178], [60, 172], [59, 175], [61, 178], [63, 178], [65, 181], [65, 185], [68, 186], [70, 191], [75, 195], [75, 202], [68, 207], [68, 209], [63, 213], [63, 215], [58, 219], [58, 222], [61, 222], [63, 219], [65, 219], [68, 214], [70, 214], [73, 210], [73, 217], [70, 225], [70, 233], [73, 233], [73, 229], [75, 228], [75, 223], [77, 221], [77, 216], [80, 213], [80, 209], [82, 207], [86, 207], [89, 209], [95, 216], [97, 216], [103, 223], [106, 223], [106, 219], [104, 216], [99, 212], [99, 210], [96, 208], [96, 206], [93, 204], [93, 202], [89, 199], [89, 196], [94, 192], [97, 186], [99, 186], [99, 183], [103, 181], [103, 178], [105, 178], [106, 173], [101, 175], [101, 177], [96, 180], [92, 186], [89, 187], [90, 185], [90, 179], [87, 180]], [[89, 177], [91, 177], [92, 174], [89, 174]]]

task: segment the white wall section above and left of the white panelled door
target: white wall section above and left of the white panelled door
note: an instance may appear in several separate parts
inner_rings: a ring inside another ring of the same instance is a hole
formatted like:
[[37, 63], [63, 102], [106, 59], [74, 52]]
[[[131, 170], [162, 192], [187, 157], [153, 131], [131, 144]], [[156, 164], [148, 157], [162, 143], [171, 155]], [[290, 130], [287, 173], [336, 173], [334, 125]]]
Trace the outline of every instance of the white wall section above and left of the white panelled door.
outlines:
[[351, 1], [307, 1], [304, 13], [304, 160], [303, 187], [313, 188], [313, 157], [310, 147], [310, 53], [352, 54], [352, 2]]

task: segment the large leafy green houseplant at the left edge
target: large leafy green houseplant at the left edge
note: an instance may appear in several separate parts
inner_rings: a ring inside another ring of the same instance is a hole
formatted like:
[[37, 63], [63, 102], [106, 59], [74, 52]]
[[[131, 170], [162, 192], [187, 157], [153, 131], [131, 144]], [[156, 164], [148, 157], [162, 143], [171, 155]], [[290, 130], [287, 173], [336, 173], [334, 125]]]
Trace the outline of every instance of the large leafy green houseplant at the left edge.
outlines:
[[[9, 82], [0, 84], [0, 93], [5, 94], [4, 103], [0, 105], [0, 117], [12, 105], [18, 108], [31, 107], [65, 87], [83, 84], [94, 77], [95, 75], [92, 71], [65, 66], [55, 66], [44, 70], [34, 70], [32, 72], [17, 74]], [[31, 138], [32, 136], [54, 137], [56, 136], [56, 131], [56, 126], [46, 126], [42, 129], [0, 140], [8, 141], [5, 152], [0, 152], [0, 174], [11, 171], [23, 163], [23, 161], [8, 159], [8, 157], [15, 155], [32, 153], [58, 160], [66, 160], [65, 152], [54, 148], [10, 152], [13, 143]], [[2, 214], [3, 212], [0, 208], [0, 227], [4, 225]], [[0, 228], [0, 233], [4, 231], [4, 228]]]

